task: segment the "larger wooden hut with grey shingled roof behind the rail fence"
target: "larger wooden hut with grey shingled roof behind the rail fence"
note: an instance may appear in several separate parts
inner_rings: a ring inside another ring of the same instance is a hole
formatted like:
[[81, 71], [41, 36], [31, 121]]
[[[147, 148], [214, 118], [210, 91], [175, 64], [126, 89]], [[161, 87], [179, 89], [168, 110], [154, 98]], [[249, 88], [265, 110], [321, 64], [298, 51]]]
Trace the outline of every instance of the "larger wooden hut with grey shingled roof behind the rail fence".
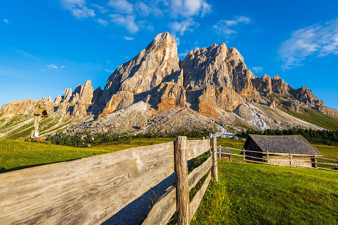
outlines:
[[245, 141], [243, 150], [247, 160], [281, 166], [316, 167], [314, 157], [323, 156], [301, 135], [267, 136], [250, 134]]

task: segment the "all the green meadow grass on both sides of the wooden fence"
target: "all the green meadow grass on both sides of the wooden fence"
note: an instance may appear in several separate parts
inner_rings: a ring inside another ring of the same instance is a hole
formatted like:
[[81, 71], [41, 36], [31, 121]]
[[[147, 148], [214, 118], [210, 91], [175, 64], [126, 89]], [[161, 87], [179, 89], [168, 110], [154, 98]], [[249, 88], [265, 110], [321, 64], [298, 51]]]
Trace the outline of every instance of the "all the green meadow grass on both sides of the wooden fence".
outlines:
[[[1, 172], [8, 172], [169, 141], [174, 139], [131, 139], [89, 148], [75, 148], [0, 140], [0, 168]], [[217, 141], [217, 145], [237, 148], [239, 150], [233, 150], [233, 153], [239, 153], [245, 140], [217, 139]], [[338, 147], [325, 145], [315, 147], [327, 158], [338, 157]], [[202, 156], [193, 160], [189, 171], [206, 158]], [[338, 223], [337, 172], [225, 160], [219, 161], [218, 166], [219, 183], [210, 181], [190, 224]], [[197, 187], [190, 192], [191, 199], [204, 179], [201, 179]], [[173, 217], [170, 224], [174, 223]]]

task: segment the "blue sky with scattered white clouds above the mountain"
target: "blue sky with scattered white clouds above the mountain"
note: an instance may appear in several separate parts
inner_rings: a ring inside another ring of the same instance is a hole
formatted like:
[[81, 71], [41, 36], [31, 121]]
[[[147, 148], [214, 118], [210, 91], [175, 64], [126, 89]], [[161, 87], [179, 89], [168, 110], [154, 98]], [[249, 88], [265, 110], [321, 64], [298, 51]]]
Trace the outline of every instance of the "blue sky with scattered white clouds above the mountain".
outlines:
[[0, 105], [51, 95], [110, 74], [158, 33], [181, 60], [226, 43], [261, 77], [308, 86], [338, 109], [338, 1], [4, 1], [0, 8]]

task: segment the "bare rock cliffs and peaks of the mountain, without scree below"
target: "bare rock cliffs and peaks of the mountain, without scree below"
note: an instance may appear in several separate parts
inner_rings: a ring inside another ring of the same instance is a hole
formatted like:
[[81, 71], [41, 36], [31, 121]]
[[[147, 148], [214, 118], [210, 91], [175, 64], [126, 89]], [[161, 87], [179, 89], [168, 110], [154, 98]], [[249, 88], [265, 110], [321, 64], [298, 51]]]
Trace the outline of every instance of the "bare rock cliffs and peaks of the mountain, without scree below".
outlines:
[[[276, 75], [255, 77], [238, 50], [224, 43], [196, 48], [180, 61], [175, 39], [168, 32], [156, 35], [137, 56], [117, 68], [103, 90], [94, 90], [88, 80], [74, 91], [66, 88], [55, 101], [50, 96], [39, 101], [13, 101], [2, 106], [0, 112], [32, 115], [37, 108], [46, 107], [54, 116], [101, 117], [144, 101], [158, 112], [191, 105], [202, 115], [216, 117], [218, 109], [238, 110], [245, 102], [274, 108], [276, 99], [269, 102], [261, 98], [271, 94], [286, 99], [283, 104], [291, 110], [303, 105], [338, 117], [338, 111], [325, 107], [306, 86], [294, 89]], [[243, 107], [240, 112], [245, 111]]]

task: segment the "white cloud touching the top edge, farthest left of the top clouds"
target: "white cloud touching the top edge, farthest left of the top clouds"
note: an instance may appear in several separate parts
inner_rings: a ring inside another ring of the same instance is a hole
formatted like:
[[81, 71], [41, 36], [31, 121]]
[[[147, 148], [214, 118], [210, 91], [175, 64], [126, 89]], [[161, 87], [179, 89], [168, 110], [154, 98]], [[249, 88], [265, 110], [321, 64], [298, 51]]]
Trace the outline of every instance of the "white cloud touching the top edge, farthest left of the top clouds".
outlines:
[[77, 19], [95, 17], [94, 10], [86, 7], [84, 0], [62, 0], [61, 2], [64, 8], [68, 9]]

